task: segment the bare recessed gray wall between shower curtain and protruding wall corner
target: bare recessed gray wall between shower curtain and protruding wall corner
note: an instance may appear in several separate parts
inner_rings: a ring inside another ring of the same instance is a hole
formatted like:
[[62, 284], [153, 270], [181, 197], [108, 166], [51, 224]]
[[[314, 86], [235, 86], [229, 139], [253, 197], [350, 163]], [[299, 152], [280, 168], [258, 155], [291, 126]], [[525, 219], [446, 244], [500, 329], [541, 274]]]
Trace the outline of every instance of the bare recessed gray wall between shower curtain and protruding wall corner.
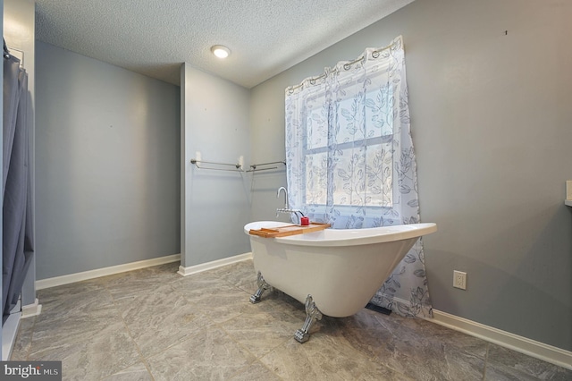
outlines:
[[180, 251], [179, 88], [37, 43], [37, 279]]

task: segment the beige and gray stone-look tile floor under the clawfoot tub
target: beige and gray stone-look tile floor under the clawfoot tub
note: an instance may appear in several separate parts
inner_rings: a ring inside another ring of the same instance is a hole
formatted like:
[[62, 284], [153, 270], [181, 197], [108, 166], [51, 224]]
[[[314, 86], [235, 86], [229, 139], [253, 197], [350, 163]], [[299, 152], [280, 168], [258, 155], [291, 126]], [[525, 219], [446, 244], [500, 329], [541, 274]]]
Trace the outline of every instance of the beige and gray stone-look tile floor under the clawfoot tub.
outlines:
[[363, 309], [293, 339], [304, 306], [258, 304], [251, 260], [196, 275], [178, 264], [38, 292], [12, 360], [62, 360], [66, 380], [571, 380], [572, 371], [422, 319]]

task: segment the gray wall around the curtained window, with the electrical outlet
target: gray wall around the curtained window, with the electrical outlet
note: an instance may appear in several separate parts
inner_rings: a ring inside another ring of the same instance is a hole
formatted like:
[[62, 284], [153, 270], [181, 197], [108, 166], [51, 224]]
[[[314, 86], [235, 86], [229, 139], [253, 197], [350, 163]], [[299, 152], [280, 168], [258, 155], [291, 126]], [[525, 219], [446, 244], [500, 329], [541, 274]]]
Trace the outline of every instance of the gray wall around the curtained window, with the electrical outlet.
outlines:
[[[571, 351], [569, 20], [565, 0], [416, 0], [252, 89], [253, 161], [284, 155], [287, 86], [402, 35], [433, 308]], [[256, 219], [284, 183], [253, 190]]]

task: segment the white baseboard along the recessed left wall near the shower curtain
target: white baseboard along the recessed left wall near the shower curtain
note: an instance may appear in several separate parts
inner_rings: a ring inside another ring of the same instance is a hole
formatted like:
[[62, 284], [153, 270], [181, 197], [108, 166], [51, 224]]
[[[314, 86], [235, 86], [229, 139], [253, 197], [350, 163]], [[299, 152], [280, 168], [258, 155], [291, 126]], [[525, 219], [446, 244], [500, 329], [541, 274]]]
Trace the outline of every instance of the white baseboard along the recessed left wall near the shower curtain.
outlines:
[[36, 281], [36, 290], [42, 290], [63, 284], [72, 284], [80, 281], [87, 281], [88, 279], [94, 279], [100, 276], [124, 273], [125, 271], [137, 270], [144, 267], [164, 265], [165, 263], [177, 262], [179, 260], [181, 260], [181, 254], [173, 254], [165, 257], [139, 260], [137, 262], [126, 263], [124, 265], [97, 268], [96, 270], [83, 271], [81, 273], [40, 279], [39, 281]]

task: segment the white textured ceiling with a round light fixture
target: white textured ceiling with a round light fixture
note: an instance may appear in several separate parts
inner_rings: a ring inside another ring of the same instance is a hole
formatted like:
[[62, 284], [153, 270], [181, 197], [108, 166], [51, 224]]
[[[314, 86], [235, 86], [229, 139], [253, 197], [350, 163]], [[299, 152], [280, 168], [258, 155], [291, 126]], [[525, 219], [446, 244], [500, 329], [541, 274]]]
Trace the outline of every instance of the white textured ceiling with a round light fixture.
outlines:
[[252, 88], [412, 1], [36, 0], [36, 38], [176, 85], [186, 62]]

